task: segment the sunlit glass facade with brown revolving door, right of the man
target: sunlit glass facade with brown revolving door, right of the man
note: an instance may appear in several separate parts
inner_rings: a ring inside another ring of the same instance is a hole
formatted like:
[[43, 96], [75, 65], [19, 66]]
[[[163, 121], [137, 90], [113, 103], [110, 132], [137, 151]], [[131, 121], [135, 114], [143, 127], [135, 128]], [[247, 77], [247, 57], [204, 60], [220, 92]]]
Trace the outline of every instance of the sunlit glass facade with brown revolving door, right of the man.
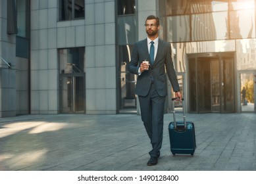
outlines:
[[255, 1], [168, 0], [166, 15], [176, 71], [188, 80], [188, 112], [245, 111], [240, 76], [256, 72]]

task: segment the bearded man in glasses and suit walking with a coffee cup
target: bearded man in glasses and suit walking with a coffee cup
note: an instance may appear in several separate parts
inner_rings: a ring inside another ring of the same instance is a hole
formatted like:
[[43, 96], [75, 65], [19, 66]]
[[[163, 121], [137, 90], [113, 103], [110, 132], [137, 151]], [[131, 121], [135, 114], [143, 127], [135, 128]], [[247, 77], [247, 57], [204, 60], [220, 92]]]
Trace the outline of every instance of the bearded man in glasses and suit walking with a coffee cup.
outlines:
[[[158, 163], [162, 147], [163, 116], [167, 95], [165, 71], [175, 91], [175, 97], [182, 98], [171, 58], [170, 43], [159, 39], [159, 29], [159, 18], [154, 15], [148, 16], [145, 21], [147, 38], [135, 43], [129, 64], [129, 71], [138, 75], [135, 93], [140, 101], [141, 120], [152, 145], [147, 166]], [[148, 61], [149, 64], [143, 61]]]

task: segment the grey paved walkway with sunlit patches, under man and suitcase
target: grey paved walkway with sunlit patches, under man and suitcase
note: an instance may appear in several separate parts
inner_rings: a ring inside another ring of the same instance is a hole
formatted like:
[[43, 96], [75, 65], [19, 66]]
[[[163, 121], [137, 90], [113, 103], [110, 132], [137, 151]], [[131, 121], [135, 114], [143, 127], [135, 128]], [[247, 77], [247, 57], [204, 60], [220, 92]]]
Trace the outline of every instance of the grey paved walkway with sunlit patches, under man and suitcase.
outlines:
[[[179, 115], [179, 114], [178, 114]], [[157, 166], [136, 114], [26, 115], [0, 119], [0, 170], [256, 170], [256, 114], [187, 114], [194, 156], [170, 153], [165, 114]]]

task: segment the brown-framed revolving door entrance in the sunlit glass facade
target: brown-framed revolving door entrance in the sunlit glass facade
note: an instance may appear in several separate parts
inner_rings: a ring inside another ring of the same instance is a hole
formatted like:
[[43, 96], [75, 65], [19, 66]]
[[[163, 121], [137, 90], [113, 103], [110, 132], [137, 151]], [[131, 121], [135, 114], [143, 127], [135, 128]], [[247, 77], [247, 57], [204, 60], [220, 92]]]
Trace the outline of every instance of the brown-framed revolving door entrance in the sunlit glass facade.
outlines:
[[189, 112], [234, 112], [234, 54], [188, 56]]

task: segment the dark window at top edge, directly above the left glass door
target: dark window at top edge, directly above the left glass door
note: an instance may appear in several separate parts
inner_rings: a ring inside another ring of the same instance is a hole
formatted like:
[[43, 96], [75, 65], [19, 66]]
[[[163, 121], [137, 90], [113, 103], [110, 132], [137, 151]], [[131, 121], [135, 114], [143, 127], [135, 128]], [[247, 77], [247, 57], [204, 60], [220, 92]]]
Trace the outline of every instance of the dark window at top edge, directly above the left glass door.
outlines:
[[84, 0], [60, 0], [60, 20], [84, 18]]

